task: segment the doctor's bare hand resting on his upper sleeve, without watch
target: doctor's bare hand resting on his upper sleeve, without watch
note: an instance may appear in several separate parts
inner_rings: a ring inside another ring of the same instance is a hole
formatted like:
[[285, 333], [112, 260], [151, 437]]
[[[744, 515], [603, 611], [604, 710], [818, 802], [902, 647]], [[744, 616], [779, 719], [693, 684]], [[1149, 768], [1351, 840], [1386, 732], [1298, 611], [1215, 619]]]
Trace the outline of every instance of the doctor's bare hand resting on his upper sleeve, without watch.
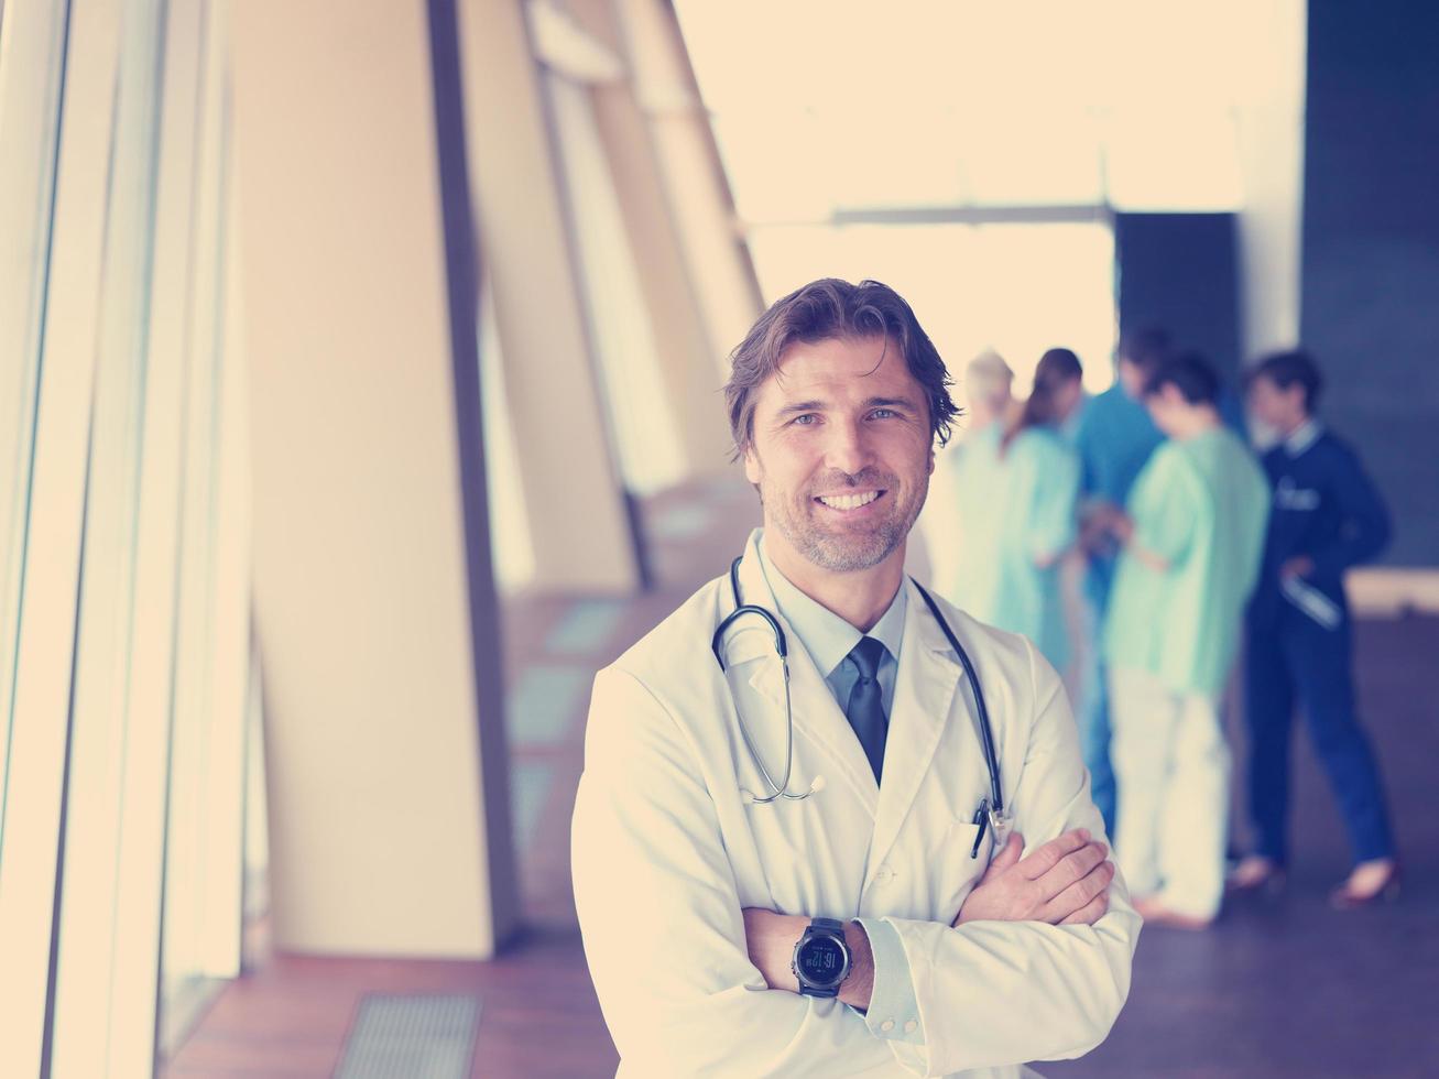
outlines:
[[1013, 834], [966, 898], [954, 925], [979, 921], [1094, 925], [1109, 909], [1114, 863], [1085, 829], [1066, 832], [1022, 859]]

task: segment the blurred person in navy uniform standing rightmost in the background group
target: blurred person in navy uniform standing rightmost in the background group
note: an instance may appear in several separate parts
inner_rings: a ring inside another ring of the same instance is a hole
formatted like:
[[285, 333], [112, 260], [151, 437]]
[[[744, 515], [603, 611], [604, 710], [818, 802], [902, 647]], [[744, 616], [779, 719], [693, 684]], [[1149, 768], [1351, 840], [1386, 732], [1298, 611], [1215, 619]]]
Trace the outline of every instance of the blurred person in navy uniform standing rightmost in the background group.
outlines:
[[1389, 542], [1389, 511], [1354, 450], [1315, 417], [1322, 378], [1308, 352], [1269, 355], [1248, 381], [1253, 416], [1281, 437], [1263, 456], [1274, 508], [1249, 603], [1245, 662], [1258, 846], [1235, 868], [1230, 888], [1282, 883], [1289, 728], [1298, 704], [1354, 849], [1354, 870], [1331, 899], [1363, 906], [1397, 892], [1399, 863], [1374, 752], [1354, 711], [1344, 571]]

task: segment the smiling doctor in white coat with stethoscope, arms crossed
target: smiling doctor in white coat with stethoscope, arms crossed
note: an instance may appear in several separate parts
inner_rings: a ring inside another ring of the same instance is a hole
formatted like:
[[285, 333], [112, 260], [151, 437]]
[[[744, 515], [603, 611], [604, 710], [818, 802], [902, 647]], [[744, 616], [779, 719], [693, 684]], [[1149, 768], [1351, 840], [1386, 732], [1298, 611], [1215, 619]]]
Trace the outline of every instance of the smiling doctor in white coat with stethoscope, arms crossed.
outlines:
[[586, 731], [576, 908], [622, 1075], [1016, 1076], [1124, 1003], [1138, 918], [1058, 676], [935, 600], [951, 642], [904, 577], [947, 381], [876, 282], [806, 285], [735, 350], [764, 528], [600, 672]]

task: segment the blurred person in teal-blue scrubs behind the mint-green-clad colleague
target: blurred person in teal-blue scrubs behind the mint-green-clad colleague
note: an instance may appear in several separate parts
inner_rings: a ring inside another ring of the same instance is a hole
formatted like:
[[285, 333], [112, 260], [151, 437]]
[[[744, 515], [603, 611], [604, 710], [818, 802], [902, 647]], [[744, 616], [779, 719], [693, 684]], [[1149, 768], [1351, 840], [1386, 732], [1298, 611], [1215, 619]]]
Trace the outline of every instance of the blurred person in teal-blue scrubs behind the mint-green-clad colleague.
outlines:
[[1144, 407], [1144, 383], [1170, 354], [1170, 337], [1148, 327], [1124, 334], [1115, 350], [1114, 386], [1084, 403], [1075, 433], [1079, 453], [1079, 544], [1088, 560], [1084, 597], [1084, 676], [1076, 718], [1094, 803], [1114, 832], [1115, 786], [1109, 761], [1109, 701], [1098, 642], [1104, 634], [1118, 547], [1104, 522], [1124, 506], [1140, 469], [1164, 440]]

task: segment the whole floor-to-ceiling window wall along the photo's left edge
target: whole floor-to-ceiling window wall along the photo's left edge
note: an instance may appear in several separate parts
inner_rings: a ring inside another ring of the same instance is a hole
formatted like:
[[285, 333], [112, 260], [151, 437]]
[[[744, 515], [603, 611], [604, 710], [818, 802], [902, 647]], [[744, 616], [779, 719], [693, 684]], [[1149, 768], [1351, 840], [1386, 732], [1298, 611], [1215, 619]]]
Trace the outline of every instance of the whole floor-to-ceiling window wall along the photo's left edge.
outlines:
[[224, 50], [220, 0], [0, 19], [0, 1075], [148, 1073], [239, 970]]

